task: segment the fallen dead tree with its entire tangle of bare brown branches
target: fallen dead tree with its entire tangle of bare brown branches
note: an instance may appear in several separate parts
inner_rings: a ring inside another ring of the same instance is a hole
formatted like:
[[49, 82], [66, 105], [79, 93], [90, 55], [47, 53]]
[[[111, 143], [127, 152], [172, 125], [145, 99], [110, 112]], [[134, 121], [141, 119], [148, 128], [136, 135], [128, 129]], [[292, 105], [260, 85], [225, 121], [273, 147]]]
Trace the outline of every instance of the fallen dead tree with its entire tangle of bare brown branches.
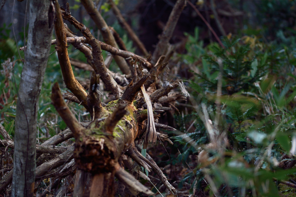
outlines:
[[[168, 42], [184, 8], [185, 0], [176, 2], [160, 37], [156, 52], [148, 59], [125, 50], [120, 38], [114, 38], [116, 32], [107, 26], [101, 14], [95, 9], [93, 1], [83, 0], [81, 3], [101, 30], [105, 43], [94, 38], [89, 28], [72, 17], [69, 10], [61, 10], [58, 1], [56, 1], [57, 16], [54, 26], [56, 40], [52, 40], [52, 44], [56, 44], [55, 48], [64, 82], [72, 93], [67, 92], [62, 95], [59, 85], [55, 83], [52, 87], [51, 99], [69, 129], [36, 146], [38, 167], [36, 168], [35, 191], [45, 178], [54, 177], [54, 181], [48, 186], [51, 188], [58, 185], [62, 178], [75, 174], [73, 196], [114, 196], [115, 177], [118, 179], [120, 196], [139, 193], [154, 195], [151, 190], [137, 180], [138, 177], [141, 177], [150, 181], [147, 175], [139, 170], [138, 165], [133, 163], [135, 161], [148, 172], [153, 170], [159, 175], [163, 185], [174, 194], [176, 189], [168, 182], [157, 164], [148, 154], [146, 157], [145, 154], [141, 154], [141, 151], [147, 148], [148, 143], [155, 143], [157, 139], [172, 143], [167, 135], [158, 133], [156, 128], [175, 129], [156, 123], [155, 118], [160, 113], [172, 109], [163, 106], [163, 104], [173, 106], [176, 100], [184, 100], [188, 96], [181, 80], [176, 79], [170, 83], [166, 71], [163, 74], [163, 80], [160, 79], [172, 54], [168, 50]], [[122, 18], [112, 1], [110, 4], [116, 16]], [[84, 37], [75, 37], [64, 25], [63, 19], [74, 25]], [[123, 25], [128, 28], [124, 21]], [[130, 33], [130, 35], [138, 43], [140, 51], [147, 55], [144, 45], [139, 43], [136, 35], [134, 33]], [[67, 43], [71, 43], [85, 54], [89, 64], [82, 65], [84, 69], [93, 71], [88, 92], [73, 74]], [[118, 46], [121, 49], [118, 49]], [[107, 68], [102, 50], [113, 55], [123, 75], [113, 73]], [[150, 62], [149, 59], [152, 61]], [[100, 80], [104, 83], [104, 91], [110, 91], [111, 97], [115, 99], [108, 104], [101, 101]], [[119, 85], [126, 82], [128, 85], [125, 87]], [[171, 92], [178, 86], [180, 86], [181, 92]], [[84, 106], [91, 114], [92, 121], [79, 123], [64, 99]], [[14, 142], [4, 128], [1, 128], [1, 134], [4, 136], [2, 146], [14, 148]], [[74, 147], [57, 146], [72, 137], [75, 138]], [[43, 153], [54, 154], [48, 157], [48, 155], [42, 155]], [[134, 176], [125, 169], [133, 172]], [[0, 193], [10, 184], [11, 180], [12, 170], [1, 181]], [[42, 196], [48, 193], [49, 188], [42, 193]], [[63, 189], [60, 188], [60, 193], [62, 192]]]

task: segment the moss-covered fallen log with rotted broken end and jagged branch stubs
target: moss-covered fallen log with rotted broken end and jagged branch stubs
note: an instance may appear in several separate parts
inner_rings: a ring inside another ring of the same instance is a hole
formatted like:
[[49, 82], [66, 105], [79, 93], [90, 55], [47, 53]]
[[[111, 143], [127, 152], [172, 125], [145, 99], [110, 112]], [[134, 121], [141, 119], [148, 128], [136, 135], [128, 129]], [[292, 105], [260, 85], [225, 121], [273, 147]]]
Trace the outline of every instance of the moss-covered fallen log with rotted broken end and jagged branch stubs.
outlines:
[[[89, 28], [86, 28], [70, 14], [62, 13], [64, 19], [69, 20], [72, 25], [83, 33], [86, 41], [92, 48], [94, 62], [92, 66], [95, 72], [91, 76], [89, 92], [86, 97], [82, 98], [76, 95], [77, 93], [75, 91], [71, 90], [74, 94], [73, 96], [71, 95], [71, 98], [75, 98], [74, 102], [79, 97], [79, 101], [84, 104], [91, 114], [92, 121], [86, 128], [81, 126], [71, 113], [63, 100], [59, 85], [56, 83], [52, 88], [52, 103], [73, 132], [75, 138], [73, 155], [76, 165], [80, 169], [78, 172], [82, 174], [91, 172], [93, 175], [89, 196], [114, 196], [114, 177], [117, 177], [120, 184], [126, 187], [125, 190], [129, 190], [134, 195], [138, 193], [153, 195], [154, 193], [152, 191], [144, 187], [136, 178], [124, 170], [124, 164], [128, 164], [126, 166], [128, 169], [131, 168], [130, 163], [127, 162], [129, 159], [133, 159], [149, 172], [154, 170], [160, 176], [160, 180], [165, 187], [171, 193], [176, 193], [176, 189], [170, 185], [156, 163], [150, 157], [146, 158], [143, 156], [137, 149], [139, 147], [136, 148], [135, 140], [141, 146], [143, 144], [143, 147], [147, 147], [147, 143], [149, 142], [155, 143], [157, 139], [168, 140], [172, 143], [166, 135], [157, 133], [155, 126], [170, 130], [174, 129], [166, 125], [156, 125], [154, 122], [154, 119], [159, 115], [158, 113], [162, 113], [164, 110], [170, 110], [171, 108], [163, 108], [161, 104], [154, 106], [152, 102], [158, 102], [158, 100], [161, 100], [160, 97], [168, 95], [173, 88], [180, 84], [180, 80], [176, 80], [173, 84], [170, 84], [165, 73], [163, 87], [157, 88], [156, 83], [160, 78], [157, 75], [162, 73], [167, 64], [167, 62], [163, 62], [165, 57], [161, 56], [155, 67], [149, 73], [145, 74], [141, 61], [144, 60], [144, 64], [151, 65], [151, 63], [139, 56], [128, 56], [132, 58], [131, 61], [134, 63], [139, 61], [139, 64], [136, 67], [133, 79], [122, 92], [104, 64], [101, 51], [101, 46], [104, 43], [96, 40]], [[60, 17], [61, 13], [59, 12], [58, 15]], [[60, 23], [59, 26], [63, 29], [61, 20], [58, 22]], [[65, 36], [60, 37], [57, 38], [57, 43], [59, 43], [59, 39], [66, 40]], [[62, 57], [59, 57], [60, 62], [64, 62], [64, 60]], [[62, 70], [62, 72], [64, 71]], [[101, 102], [102, 93], [99, 91], [100, 77], [106, 88], [117, 99], [110, 101], [107, 105]], [[172, 104], [176, 99], [180, 98], [180, 96], [174, 95], [169, 95], [167, 98], [169, 99], [168, 103]], [[138, 174], [144, 177], [143, 173]], [[80, 191], [79, 194], [81, 194], [82, 186], [78, 188], [77, 185], [79, 185], [78, 183], [85, 183], [84, 178], [84, 176], [80, 176], [80, 178], [78, 176], [75, 179], [76, 190]], [[121, 189], [121, 192], [125, 190]]]

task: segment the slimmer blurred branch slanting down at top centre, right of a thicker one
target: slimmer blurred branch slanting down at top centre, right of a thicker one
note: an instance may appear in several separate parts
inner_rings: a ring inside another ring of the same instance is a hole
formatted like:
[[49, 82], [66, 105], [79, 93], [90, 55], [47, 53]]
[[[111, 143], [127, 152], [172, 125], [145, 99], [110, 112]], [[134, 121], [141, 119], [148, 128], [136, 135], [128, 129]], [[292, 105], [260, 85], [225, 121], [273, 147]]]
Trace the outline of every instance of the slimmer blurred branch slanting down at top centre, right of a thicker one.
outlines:
[[138, 47], [138, 49], [141, 51], [141, 53], [146, 57], [149, 56], [149, 53], [146, 50], [144, 44], [140, 41], [139, 37], [134, 33], [132, 28], [128, 25], [126, 20], [123, 18], [118, 7], [115, 5], [115, 3], [112, 0], [108, 0], [108, 1], [109, 1], [109, 4], [111, 5], [112, 11], [113, 11], [114, 15], [116, 16], [121, 27], [124, 30], [126, 30], [128, 35], [132, 39], [133, 43]]

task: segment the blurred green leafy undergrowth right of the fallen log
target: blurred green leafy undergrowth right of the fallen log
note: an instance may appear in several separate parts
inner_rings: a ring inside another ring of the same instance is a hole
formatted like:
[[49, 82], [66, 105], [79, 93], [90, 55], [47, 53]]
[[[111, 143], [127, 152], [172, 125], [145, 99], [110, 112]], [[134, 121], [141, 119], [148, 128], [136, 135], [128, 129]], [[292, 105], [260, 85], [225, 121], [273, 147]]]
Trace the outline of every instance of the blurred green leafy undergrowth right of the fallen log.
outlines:
[[[187, 53], [181, 55], [185, 64], [197, 65], [189, 84], [194, 109], [176, 115], [184, 134], [171, 137], [182, 150], [173, 159], [191, 169], [179, 187], [190, 183], [191, 192], [195, 187], [210, 196], [280, 196], [287, 192], [280, 189], [281, 181], [296, 181], [294, 167], [281, 169], [283, 161], [295, 159], [294, 154], [286, 160], [282, 156], [289, 155], [296, 135], [296, 48], [248, 35], [223, 38], [225, 49], [217, 43], [202, 48], [197, 32], [187, 34]], [[222, 95], [217, 97], [220, 73]], [[217, 141], [209, 140], [207, 121], [218, 131]], [[192, 122], [195, 130], [186, 131], [184, 125]]]

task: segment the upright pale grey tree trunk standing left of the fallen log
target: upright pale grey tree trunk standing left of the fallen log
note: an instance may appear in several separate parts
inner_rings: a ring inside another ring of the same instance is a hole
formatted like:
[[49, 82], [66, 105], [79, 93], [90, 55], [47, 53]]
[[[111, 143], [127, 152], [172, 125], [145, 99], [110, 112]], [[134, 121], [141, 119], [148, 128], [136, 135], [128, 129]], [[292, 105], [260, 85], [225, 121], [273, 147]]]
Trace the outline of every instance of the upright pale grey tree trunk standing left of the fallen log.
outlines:
[[49, 56], [54, 16], [52, 0], [30, 1], [28, 47], [15, 118], [12, 196], [33, 196], [38, 101]]

